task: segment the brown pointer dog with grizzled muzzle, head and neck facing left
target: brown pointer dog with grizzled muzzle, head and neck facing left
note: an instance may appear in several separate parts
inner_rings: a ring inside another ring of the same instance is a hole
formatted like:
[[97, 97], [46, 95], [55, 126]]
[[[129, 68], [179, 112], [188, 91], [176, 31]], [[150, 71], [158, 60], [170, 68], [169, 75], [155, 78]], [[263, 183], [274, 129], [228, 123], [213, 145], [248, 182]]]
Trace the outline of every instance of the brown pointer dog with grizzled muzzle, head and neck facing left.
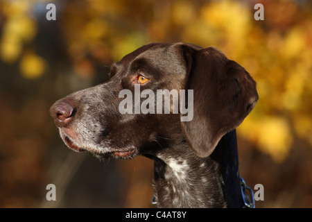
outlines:
[[[135, 93], [135, 87], [142, 93], [187, 90], [184, 105], [192, 118], [182, 121], [185, 114], [174, 113], [173, 104], [169, 113], [122, 114], [123, 105], [137, 102], [121, 105], [120, 92]], [[153, 160], [157, 207], [243, 207], [235, 128], [258, 99], [248, 71], [218, 49], [155, 43], [114, 63], [106, 83], [56, 101], [50, 113], [73, 151]]]

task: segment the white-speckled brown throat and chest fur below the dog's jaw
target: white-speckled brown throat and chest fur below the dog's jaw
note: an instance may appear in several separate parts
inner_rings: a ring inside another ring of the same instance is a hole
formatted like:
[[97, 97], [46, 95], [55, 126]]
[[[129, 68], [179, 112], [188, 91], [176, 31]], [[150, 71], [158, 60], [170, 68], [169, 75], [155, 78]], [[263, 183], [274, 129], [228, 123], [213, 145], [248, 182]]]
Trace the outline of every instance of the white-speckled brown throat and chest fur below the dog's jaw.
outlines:
[[[207, 207], [216, 203], [211, 189], [219, 187], [214, 178], [209, 180], [205, 162], [169, 158], [165, 164], [155, 166], [159, 167], [155, 169], [159, 175], [155, 175], [154, 184], [158, 207]], [[219, 202], [223, 202], [222, 198]]]

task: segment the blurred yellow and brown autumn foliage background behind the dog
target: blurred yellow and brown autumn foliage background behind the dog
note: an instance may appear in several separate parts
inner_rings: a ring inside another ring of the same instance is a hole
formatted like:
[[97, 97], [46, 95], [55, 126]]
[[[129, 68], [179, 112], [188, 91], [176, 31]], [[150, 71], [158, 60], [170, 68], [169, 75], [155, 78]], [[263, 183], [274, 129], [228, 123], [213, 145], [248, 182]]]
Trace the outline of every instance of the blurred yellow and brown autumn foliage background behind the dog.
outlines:
[[[260, 99], [237, 128], [241, 176], [264, 187], [256, 207], [312, 207], [308, 0], [0, 0], [0, 207], [154, 207], [151, 160], [74, 153], [49, 115], [150, 42], [216, 46], [250, 72]], [[51, 183], [56, 201], [46, 200]]]

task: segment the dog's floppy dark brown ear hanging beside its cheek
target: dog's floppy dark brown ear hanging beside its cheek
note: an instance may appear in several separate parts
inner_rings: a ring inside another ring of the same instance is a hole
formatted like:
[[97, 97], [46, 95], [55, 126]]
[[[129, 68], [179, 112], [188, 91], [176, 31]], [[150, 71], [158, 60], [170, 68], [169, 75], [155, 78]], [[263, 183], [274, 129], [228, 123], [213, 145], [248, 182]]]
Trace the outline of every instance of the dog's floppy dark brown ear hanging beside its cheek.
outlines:
[[193, 120], [181, 121], [182, 129], [193, 152], [207, 157], [256, 105], [256, 82], [241, 65], [213, 47], [185, 44], [182, 52], [185, 89], [193, 89]]

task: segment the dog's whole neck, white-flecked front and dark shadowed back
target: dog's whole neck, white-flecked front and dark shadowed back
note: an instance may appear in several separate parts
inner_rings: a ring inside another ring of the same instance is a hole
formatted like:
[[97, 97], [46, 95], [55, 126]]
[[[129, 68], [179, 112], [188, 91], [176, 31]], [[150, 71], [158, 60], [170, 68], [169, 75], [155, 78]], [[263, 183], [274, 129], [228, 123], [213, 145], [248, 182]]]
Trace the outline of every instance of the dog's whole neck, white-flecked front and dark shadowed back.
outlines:
[[155, 162], [158, 207], [242, 207], [235, 130], [209, 157], [197, 157], [186, 142], [146, 155]]

